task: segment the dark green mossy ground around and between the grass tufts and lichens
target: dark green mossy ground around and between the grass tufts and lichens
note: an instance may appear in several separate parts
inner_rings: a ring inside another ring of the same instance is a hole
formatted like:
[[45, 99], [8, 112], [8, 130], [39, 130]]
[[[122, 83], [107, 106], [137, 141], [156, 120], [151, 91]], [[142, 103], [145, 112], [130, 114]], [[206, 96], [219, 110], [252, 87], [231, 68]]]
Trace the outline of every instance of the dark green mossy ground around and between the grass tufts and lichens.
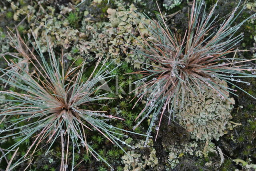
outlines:
[[[92, 40], [92, 34], [88, 32], [85, 28], [83, 28], [85, 25], [88, 26], [94, 26], [94, 28], [102, 28], [102, 23], [108, 22], [108, 8], [112, 9], [118, 9], [120, 6], [124, 6], [124, 8], [128, 9], [131, 4], [134, 4], [134, 6], [137, 8], [138, 12], [145, 12], [150, 17], [155, 17], [155, 14], [158, 14], [158, 8], [156, 6], [155, 1], [140, 1], [140, 0], [122, 0], [122, 1], [113, 1], [110, 0], [109, 4], [107, 4], [108, 0], [94, 0], [94, 1], [86, 1], [84, 4], [79, 6], [78, 8], [74, 8], [76, 4], [78, 4], [79, 0], [60, 0], [60, 1], [54, 1], [54, 0], [46, 0], [44, 3], [40, 4], [40, 6], [36, 5], [35, 0], [12, 0], [12, 3], [14, 3], [18, 8], [11, 6], [9, 2], [1, 1], [0, 2], [0, 32], [2, 33], [0, 42], [0, 47], [2, 48], [2, 52], [4, 53], [4, 49], [7, 42], [7, 30], [8, 29], [15, 29], [22, 34], [22, 36], [25, 38], [25, 40], [28, 40], [28, 35], [31, 34], [31, 29], [33, 29], [34, 32], [38, 32], [38, 35], [42, 36], [44, 28], [40, 28], [40, 30], [36, 30], [36, 25], [38, 22], [34, 20], [33, 18], [26, 18], [26, 14], [22, 12], [20, 9], [30, 12], [30, 10], [27, 8], [28, 5], [31, 6], [32, 13], [30, 13], [31, 16], [34, 18], [37, 18], [37, 20], [42, 20], [46, 17], [46, 15], [49, 15], [48, 18], [54, 18], [54, 22], [52, 22], [52, 25], [48, 25], [51, 28], [54, 28], [56, 26], [56, 22], [58, 21], [60, 28], [66, 27], [67, 30], [65, 32], [60, 32], [59, 34], [62, 34], [64, 38], [68, 38], [70, 42], [76, 45], [78, 42], [87, 42]], [[189, 4], [191, 4], [190, 1], [188, 3], [186, 1], [182, 1], [182, 3], [179, 6], [176, 6], [175, 8], [172, 8], [170, 10], [166, 10], [163, 6], [162, 0], [157, 0], [160, 10], [162, 10], [162, 14], [172, 14], [174, 12], [180, 11], [180, 13], [176, 14], [170, 20], [168, 20], [168, 24], [170, 25], [171, 29], [177, 28], [177, 32], [184, 33], [185, 29], [187, 28], [187, 13], [188, 13], [188, 7], [191, 7]], [[206, 0], [206, 3], [208, 4], [206, 6], [206, 10], [209, 10], [212, 4], [214, 4], [215, 0]], [[216, 10], [216, 14], [220, 14], [218, 16], [218, 21], [222, 21], [223, 17], [227, 15], [235, 6], [237, 0], [220, 0], [219, 6]], [[256, 3], [256, 2], [254, 2]], [[65, 9], [68, 12], [64, 12]], [[61, 14], [61, 12], [64, 12]], [[251, 14], [255, 13], [254, 10], [246, 8], [242, 15], [238, 18], [237, 22], [241, 22], [246, 17], [250, 16]], [[24, 19], [25, 18], [25, 19]], [[85, 19], [86, 18], [86, 21]], [[47, 17], [46, 17], [46, 20]], [[45, 22], [45, 19], [42, 20]], [[7, 28], [7, 27], [8, 28]], [[37, 25], [39, 27], [39, 24]], [[56, 30], [60, 29], [56, 28]], [[135, 28], [134, 28], [135, 29]], [[100, 29], [96, 29], [96, 32], [100, 32]], [[241, 28], [240, 32], [244, 32], [244, 40], [237, 45], [236, 48], [239, 48], [240, 50], [248, 50], [247, 52], [240, 52], [237, 54], [240, 58], [246, 58], [246, 59], [252, 59], [253, 52], [250, 51], [250, 48], [254, 42], [254, 36], [256, 35], [256, 23], [255, 21], [248, 21], [246, 22]], [[29, 34], [28, 34], [29, 33]], [[52, 39], [57, 42], [57, 38], [54, 38], [54, 33], [50, 33], [52, 36]], [[84, 34], [84, 35], [82, 35]], [[82, 35], [82, 36], [81, 36]], [[118, 35], [118, 33], [117, 33]], [[40, 38], [40, 36], [38, 36]], [[120, 36], [120, 35], [119, 35]], [[74, 39], [76, 38], [76, 40]], [[120, 36], [123, 38], [122, 36]], [[110, 38], [112, 38], [110, 36]], [[43, 37], [41, 37], [43, 39]], [[60, 38], [62, 39], [62, 38]], [[63, 41], [63, 40], [62, 40]], [[44, 40], [42, 40], [44, 42]], [[5, 43], [5, 44], [4, 44]], [[254, 42], [255, 43], [255, 42]], [[106, 44], [108, 46], [108, 44]], [[118, 46], [115, 46], [118, 48]], [[0, 48], [0, 49], [1, 49]], [[14, 49], [8, 46], [8, 52], [14, 52]], [[80, 51], [77, 47], [75, 47], [72, 44], [69, 44], [69, 46], [66, 46], [66, 42], [61, 42], [60, 44], [56, 44], [54, 46], [55, 52], [58, 53], [58, 55], [61, 54], [61, 50], [64, 50], [64, 54], [66, 55], [66, 60], [68, 63], [71, 63], [74, 61], [74, 59], [78, 56], [80, 56]], [[108, 49], [106, 49], [108, 51]], [[100, 51], [99, 51], [100, 52]], [[119, 52], [119, 51], [118, 51]], [[134, 68], [134, 65], [132, 65], [129, 62], [124, 62], [124, 58], [127, 56], [127, 54], [130, 51], [127, 52], [120, 52], [118, 54], [121, 55], [121, 66], [120, 68], [116, 69], [112, 74], [115, 74], [118, 76], [118, 85], [120, 86], [118, 90], [116, 91], [116, 78], [113, 78], [108, 83], [108, 86], [111, 89], [111, 92], [108, 94], [109, 97], [116, 97], [116, 99], [111, 99], [109, 101], [102, 101], [102, 109], [107, 111], [109, 114], [116, 115], [118, 117], [125, 118], [126, 121], [111, 121], [111, 124], [126, 129], [129, 131], [132, 131], [132, 127], [138, 122], [134, 121], [134, 119], [138, 116], [139, 112], [143, 109], [143, 104], [136, 105], [134, 109], [132, 109], [136, 98], [134, 101], [130, 102], [134, 96], [134, 94], [128, 94], [130, 89], [134, 89], [135, 85], [132, 84], [132, 87], [129, 87], [131, 85], [131, 82], [134, 82], [138, 79], [138, 75], [124, 75], [126, 73], [134, 72], [137, 69]], [[96, 54], [94, 52], [90, 52], [90, 55], [92, 55], [94, 58], [96, 58]], [[127, 54], [126, 54], [127, 53]], [[10, 56], [6, 56], [7, 58], [11, 58]], [[82, 61], [86, 58], [86, 55], [80, 56], [80, 58], [76, 61], [76, 66], [79, 66]], [[92, 58], [87, 59], [87, 74], [84, 74], [84, 79], [86, 79], [89, 76], [90, 70], [93, 70], [95, 65], [95, 60]], [[250, 65], [255, 66], [255, 62], [249, 63]], [[5, 68], [7, 67], [7, 63], [4, 61], [4, 59], [0, 58], [0, 67]], [[112, 64], [109, 66], [110, 69], [115, 67], [115, 64]], [[256, 96], [256, 80], [255, 79], [247, 79], [246, 82], [250, 82], [250, 85], [241, 84], [240, 86], [248, 91], [248, 93]], [[4, 87], [2, 83], [0, 83], [0, 89], [9, 89], [12, 90], [12, 87]], [[102, 91], [102, 90], [99, 90]], [[230, 157], [224, 156], [225, 160], [224, 163], [222, 163], [221, 166], [219, 166], [217, 163], [220, 161], [220, 156], [218, 153], [215, 153], [214, 151], [211, 151], [208, 153], [208, 155], [205, 155], [204, 157], [200, 157], [197, 155], [191, 155], [189, 153], [180, 154], [178, 157], [179, 163], [176, 164], [174, 167], [170, 167], [170, 162], [168, 163], [168, 146], [175, 145], [175, 144], [183, 144], [188, 142], [194, 142], [194, 140], [190, 139], [189, 132], [179, 126], [178, 124], [171, 122], [170, 125], [168, 125], [168, 122], [164, 121], [162, 122], [162, 130], [160, 131], [160, 135], [158, 139], [156, 139], [156, 142], [154, 142], [153, 148], [156, 150], [156, 157], [158, 158], [158, 165], [155, 167], [145, 166], [144, 169], [148, 170], [234, 170], [234, 169], [240, 169], [244, 170], [240, 165], [237, 165], [234, 161], [231, 159], [242, 159], [243, 161], [248, 162], [248, 164], [254, 164], [256, 163], [256, 101], [255, 99], [252, 99], [248, 95], [244, 94], [242, 91], [238, 91], [239, 97], [235, 97], [236, 105], [234, 106], [234, 109], [232, 109], [231, 115], [233, 117], [232, 121], [234, 123], [241, 123], [241, 125], [238, 125], [234, 127], [232, 130], [227, 130], [225, 135], [223, 137], [220, 137], [219, 141], [212, 140], [212, 143], [214, 143], [215, 147], [220, 147], [222, 152]], [[0, 104], [2, 105], [2, 104]], [[97, 107], [96, 105], [94, 107]], [[16, 116], [19, 117], [19, 116]], [[2, 118], [0, 118], [2, 119]], [[15, 119], [15, 118], [12, 118]], [[150, 118], [149, 118], [150, 119]], [[166, 119], [167, 120], [167, 119]], [[1, 123], [0, 129], [6, 127], [7, 125], [12, 124], [10, 123]], [[20, 123], [22, 125], [24, 123]], [[135, 129], [135, 132], [137, 133], [145, 133], [146, 129], [148, 127], [148, 121], [144, 121], [137, 129]], [[152, 133], [154, 136], [155, 133]], [[131, 144], [136, 144], [141, 139], [144, 139], [144, 137], [140, 137], [138, 135], [133, 134], [127, 134], [129, 137], [132, 138]], [[117, 146], [112, 145], [104, 136], [102, 136], [97, 131], [88, 131], [87, 133], [88, 143], [100, 154], [106, 161], [110, 163], [110, 165], [114, 166], [115, 170], [122, 170], [124, 165], [121, 161], [121, 157], [124, 155], [124, 152], [120, 150]], [[15, 141], [18, 141], [18, 139], [12, 139], [12, 138], [6, 138], [0, 140], [0, 147], [2, 149], [6, 149], [10, 144], [13, 144]], [[205, 141], [196, 141], [198, 142], [198, 146], [200, 148], [192, 148], [194, 151], [201, 150], [203, 151]], [[23, 155], [28, 146], [32, 144], [32, 139], [28, 139], [22, 145], [20, 145], [20, 149], [18, 153], [16, 154], [16, 157], [14, 160], [18, 159], [21, 155]], [[43, 170], [58, 170], [60, 167], [60, 157], [61, 157], [61, 146], [59, 144], [55, 144], [50, 151], [49, 154], [44, 155], [45, 149], [47, 149], [48, 146], [44, 146], [44, 143], [41, 143], [41, 145], [38, 148], [38, 151], [33, 155], [34, 159], [30, 165], [30, 170], [36, 170], [36, 171], [43, 171]], [[124, 146], [124, 149], [126, 151], [131, 151], [132, 149], [129, 149], [128, 147]], [[138, 153], [141, 153], [142, 155], [146, 156], [146, 159], [150, 152], [148, 152], [149, 149], [143, 149], [141, 151], [136, 151]], [[71, 156], [71, 152], [68, 154]], [[7, 160], [10, 160], [12, 157], [12, 154], [9, 154], [6, 156]], [[71, 161], [69, 161], [71, 162]], [[206, 164], [210, 163], [210, 164]], [[92, 155], [88, 155], [85, 150], [81, 150], [80, 153], [78, 151], [75, 151], [75, 165], [79, 164], [78, 167], [76, 167], [76, 170], [109, 170], [107, 165], [102, 161], [97, 161]], [[241, 164], [241, 163], [240, 163]], [[5, 159], [2, 159], [0, 163], [0, 169], [6, 168], [6, 161]], [[28, 165], [27, 162], [20, 164], [18, 167], [16, 167], [16, 170], [23, 170]], [[245, 166], [244, 166], [245, 167]]]

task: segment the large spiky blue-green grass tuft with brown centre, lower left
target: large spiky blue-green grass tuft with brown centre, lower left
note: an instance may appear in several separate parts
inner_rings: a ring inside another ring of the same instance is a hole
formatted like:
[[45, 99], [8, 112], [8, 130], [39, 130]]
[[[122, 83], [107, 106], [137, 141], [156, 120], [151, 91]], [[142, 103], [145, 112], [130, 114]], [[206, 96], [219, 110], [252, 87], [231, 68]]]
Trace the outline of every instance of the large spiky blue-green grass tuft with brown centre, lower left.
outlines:
[[[46, 145], [48, 144], [48, 150], [46, 151], [48, 153], [57, 139], [60, 139], [62, 146], [61, 170], [68, 168], [69, 146], [72, 146], [72, 169], [74, 169], [74, 150], [76, 148], [79, 152], [81, 147], [85, 147], [86, 151], [92, 153], [96, 159], [97, 157], [100, 158], [111, 167], [87, 143], [85, 129], [99, 131], [122, 150], [124, 149], [120, 143], [127, 144], [117, 136], [121, 135], [126, 138], [128, 136], [116, 131], [133, 133], [107, 123], [109, 119], [121, 118], [106, 115], [106, 111], [100, 111], [100, 109], [92, 109], [92, 105], [97, 104], [97, 101], [110, 99], [110, 97], [106, 96], [107, 93], [96, 96], [94, 93], [102, 87], [102, 85], [97, 86], [101, 80], [113, 77], [110, 73], [115, 68], [108, 71], [104, 65], [107, 59], [101, 63], [101, 58], [99, 58], [93, 72], [83, 82], [82, 76], [85, 61], [80, 66], [72, 67], [73, 62], [70, 67], [66, 67], [63, 55], [60, 58], [55, 56], [49, 39], [47, 39], [49, 57], [46, 60], [36, 38], [34, 43], [30, 43], [37, 55], [32, 52], [33, 50], [30, 50], [20, 36], [17, 36], [17, 38], [18, 41], [13, 41], [13, 43], [17, 48], [23, 47], [28, 50], [29, 53], [21, 55], [24, 55], [30, 61], [33, 72], [21, 68], [19, 63], [16, 64], [12, 60], [6, 60], [6, 62], [13, 70], [0, 69], [0, 72], [4, 74], [4, 77], [0, 77], [0, 80], [17, 89], [15, 91], [0, 91], [7, 97], [12, 97], [2, 99], [9, 103], [9, 106], [0, 109], [0, 116], [2, 116], [2, 121], [6, 124], [12, 123], [12, 125], [0, 130], [0, 135], [2, 135], [0, 139], [8, 137], [19, 139], [7, 149], [9, 151], [5, 155], [19, 147], [26, 139], [31, 139], [32, 144], [28, 147], [26, 154], [16, 161], [11, 168], [17, 166], [26, 157], [32, 156], [42, 141]], [[27, 56], [28, 54], [30, 57]], [[16, 68], [19, 69], [19, 72], [16, 72]], [[26, 93], [20, 93], [21, 91]], [[15, 119], [11, 120], [10, 117], [12, 116]], [[20, 125], [24, 121], [26, 121], [26, 124]], [[66, 142], [66, 147], [64, 141]], [[130, 145], [128, 146], [131, 147]]]

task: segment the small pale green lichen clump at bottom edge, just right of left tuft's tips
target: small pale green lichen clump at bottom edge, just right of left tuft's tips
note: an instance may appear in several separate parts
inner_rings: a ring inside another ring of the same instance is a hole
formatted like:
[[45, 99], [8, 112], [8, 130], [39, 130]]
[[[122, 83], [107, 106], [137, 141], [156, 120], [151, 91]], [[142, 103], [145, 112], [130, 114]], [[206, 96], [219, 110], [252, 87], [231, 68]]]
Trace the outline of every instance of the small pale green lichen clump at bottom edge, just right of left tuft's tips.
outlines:
[[[147, 166], [150, 168], [155, 167], [158, 164], [156, 157], [156, 150], [153, 148], [153, 140], [149, 139], [145, 146], [145, 141], [140, 141], [135, 145], [135, 149], [128, 151], [127, 154], [121, 157], [122, 163], [124, 164], [124, 171], [131, 170], [145, 170]], [[141, 154], [139, 151], [149, 148], [150, 154]]]

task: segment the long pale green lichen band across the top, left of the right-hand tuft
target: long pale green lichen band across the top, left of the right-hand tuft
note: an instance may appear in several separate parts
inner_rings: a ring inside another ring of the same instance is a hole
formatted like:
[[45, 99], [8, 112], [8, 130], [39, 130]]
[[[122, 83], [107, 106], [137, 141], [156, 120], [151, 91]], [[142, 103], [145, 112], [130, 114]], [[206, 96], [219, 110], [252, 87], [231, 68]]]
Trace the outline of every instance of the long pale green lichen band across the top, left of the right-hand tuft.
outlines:
[[[116, 64], [119, 64], [121, 60], [125, 60], [133, 65], [134, 68], [140, 68], [144, 65], [140, 62], [149, 62], [148, 58], [131, 54], [128, 47], [128, 44], [136, 46], [139, 44], [138, 40], [142, 40], [138, 29], [145, 38], [150, 34], [142, 24], [142, 22], [150, 24], [150, 20], [146, 19], [142, 14], [140, 16], [139, 13], [134, 12], [136, 8], [133, 4], [128, 9], [122, 5], [117, 9], [108, 8], [107, 22], [95, 22], [92, 16], [88, 14], [88, 11], [84, 11], [84, 17], [81, 17], [82, 26], [79, 30], [71, 27], [67, 17], [65, 17], [69, 12], [74, 12], [72, 4], [59, 6], [60, 13], [56, 13], [55, 8], [52, 6], [45, 6], [46, 14], [43, 11], [36, 13], [33, 6], [18, 7], [20, 9], [13, 9], [16, 20], [24, 18], [25, 12], [37, 18], [38, 22], [31, 22], [32, 17], [28, 17], [31, 30], [26, 30], [26, 33], [31, 35], [33, 32], [36, 38], [40, 38], [39, 42], [42, 52], [46, 52], [46, 48], [44, 48], [46, 46], [44, 45], [47, 44], [47, 35], [54, 48], [60, 47], [64, 49], [64, 52], [67, 52], [72, 46], [76, 46], [80, 48], [80, 54], [84, 51], [84, 54], [81, 56], [83, 58], [87, 57], [87, 54], [95, 54], [95, 56], [92, 55], [94, 59], [97, 59], [99, 56], [103, 56], [103, 58], [109, 57], [115, 60]], [[134, 37], [134, 35], [137, 36]]]

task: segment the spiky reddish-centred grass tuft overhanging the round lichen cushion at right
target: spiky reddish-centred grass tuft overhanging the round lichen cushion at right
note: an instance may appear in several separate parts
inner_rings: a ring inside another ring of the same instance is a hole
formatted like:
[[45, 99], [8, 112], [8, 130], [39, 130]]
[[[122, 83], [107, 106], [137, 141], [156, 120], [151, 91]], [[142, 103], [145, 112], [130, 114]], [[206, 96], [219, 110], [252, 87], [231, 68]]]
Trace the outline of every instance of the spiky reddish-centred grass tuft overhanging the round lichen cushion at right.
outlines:
[[[230, 16], [222, 24], [216, 26], [214, 24], [218, 16], [213, 16], [213, 12], [217, 3], [218, 1], [207, 15], [205, 2], [194, 0], [188, 16], [188, 30], [184, 35], [173, 33], [167, 26], [161, 12], [158, 20], [148, 18], [151, 21], [150, 24], [141, 21], [150, 36], [146, 40], [144, 34], [140, 32], [142, 41], [137, 39], [140, 46], [130, 46], [130, 48], [134, 53], [149, 58], [154, 64], [141, 62], [146, 65], [146, 68], [143, 71], [133, 72], [133, 74], [143, 75], [142, 79], [134, 82], [134, 84], [143, 83], [142, 85], [137, 84], [138, 87], [134, 90], [138, 92], [136, 96], [139, 97], [136, 103], [147, 97], [144, 109], [136, 118], [142, 117], [142, 119], [133, 129], [146, 117], [152, 115], [147, 131], [147, 134], [150, 135], [152, 127], [160, 116], [159, 123], [156, 125], [157, 137], [162, 116], [165, 112], [169, 113], [169, 123], [171, 117], [175, 119], [177, 108], [183, 105], [185, 91], [190, 91], [195, 97], [197, 96], [192, 85], [196, 85], [200, 92], [204, 92], [204, 87], [210, 87], [210, 89], [218, 92], [216, 98], [228, 99], [218, 87], [233, 95], [236, 95], [234, 93], [236, 90], [218, 85], [215, 79], [224, 80], [244, 91], [235, 82], [249, 85], [250, 83], [243, 82], [242, 78], [256, 77], [244, 72], [254, 71], [250, 65], [244, 64], [250, 60], [226, 57], [230, 53], [240, 51], [234, 50], [234, 46], [243, 39], [243, 34], [234, 35], [244, 22], [255, 17], [256, 14], [232, 26], [244, 8], [244, 6], [240, 6], [239, 2]], [[182, 101], [178, 101], [178, 97], [182, 97]]]

